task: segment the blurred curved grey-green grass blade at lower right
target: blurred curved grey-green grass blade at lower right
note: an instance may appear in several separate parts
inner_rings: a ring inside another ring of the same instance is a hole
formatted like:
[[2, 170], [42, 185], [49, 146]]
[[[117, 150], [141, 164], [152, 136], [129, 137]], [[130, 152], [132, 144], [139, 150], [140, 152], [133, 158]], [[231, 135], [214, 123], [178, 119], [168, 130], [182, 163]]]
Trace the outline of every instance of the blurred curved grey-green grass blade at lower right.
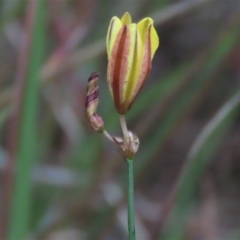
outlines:
[[234, 95], [213, 117], [193, 144], [176, 190], [176, 205], [168, 221], [164, 239], [181, 239], [186, 211], [194, 189], [208, 167], [224, 133], [234, 121], [240, 107], [240, 93]]

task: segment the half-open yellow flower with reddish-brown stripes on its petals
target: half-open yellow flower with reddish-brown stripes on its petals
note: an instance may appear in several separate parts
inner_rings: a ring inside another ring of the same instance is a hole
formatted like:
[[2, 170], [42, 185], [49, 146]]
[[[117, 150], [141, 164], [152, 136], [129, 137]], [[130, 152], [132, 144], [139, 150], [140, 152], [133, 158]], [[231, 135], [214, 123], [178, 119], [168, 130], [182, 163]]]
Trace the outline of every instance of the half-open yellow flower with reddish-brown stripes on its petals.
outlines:
[[108, 86], [119, 114], [126, 114], [142, 88], [159, 45], [151, 18], [132, 23], [129, 13], [113, 17], [107, 33]]

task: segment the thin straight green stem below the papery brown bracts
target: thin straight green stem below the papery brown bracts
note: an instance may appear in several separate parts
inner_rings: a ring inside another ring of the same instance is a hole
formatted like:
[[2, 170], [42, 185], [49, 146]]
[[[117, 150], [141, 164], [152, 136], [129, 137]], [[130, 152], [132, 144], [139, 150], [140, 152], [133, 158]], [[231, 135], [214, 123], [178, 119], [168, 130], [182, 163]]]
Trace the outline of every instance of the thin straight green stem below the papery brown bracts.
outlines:
[[128, 239], [135, 240], [133, 160], [127, 159], [127, 166], [128, 166]]

